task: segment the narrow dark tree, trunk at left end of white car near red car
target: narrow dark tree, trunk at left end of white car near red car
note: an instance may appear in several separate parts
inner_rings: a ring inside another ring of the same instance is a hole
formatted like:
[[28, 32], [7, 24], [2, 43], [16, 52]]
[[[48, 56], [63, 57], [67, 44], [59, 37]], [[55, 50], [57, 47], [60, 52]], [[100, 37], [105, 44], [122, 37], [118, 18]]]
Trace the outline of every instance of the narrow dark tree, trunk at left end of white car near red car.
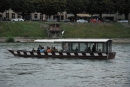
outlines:
[[66, 0], [66, 11], [74, 14], [74, 19], [77, 20], [77, 14], [84, 11], [83, 0]]

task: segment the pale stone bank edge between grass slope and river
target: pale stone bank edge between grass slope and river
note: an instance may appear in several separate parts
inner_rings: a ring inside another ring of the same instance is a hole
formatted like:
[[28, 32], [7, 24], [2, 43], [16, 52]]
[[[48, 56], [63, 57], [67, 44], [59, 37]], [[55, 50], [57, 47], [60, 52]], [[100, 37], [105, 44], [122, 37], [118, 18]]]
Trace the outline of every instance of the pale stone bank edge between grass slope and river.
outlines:
[[[7, 37], [0, 37], [0, 42], [6, 42]], [[42, 38], [33, 38], [33, 37], [15, 37], [15, 42], [34, 42], [36, 39]], [[91, 39], [91, 38], [89, 38]], [[130, 43], [130, 38], [111, 38], [114, 43]]]

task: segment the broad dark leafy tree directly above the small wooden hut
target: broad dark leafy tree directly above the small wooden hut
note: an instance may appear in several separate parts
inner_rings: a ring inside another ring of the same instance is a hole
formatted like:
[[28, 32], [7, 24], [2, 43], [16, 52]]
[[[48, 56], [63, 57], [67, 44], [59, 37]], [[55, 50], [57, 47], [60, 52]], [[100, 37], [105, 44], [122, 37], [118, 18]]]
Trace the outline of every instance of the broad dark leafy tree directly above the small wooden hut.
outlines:
[[49, 17], [65, 11], [65, 0], [38, 0], [37, 11]]

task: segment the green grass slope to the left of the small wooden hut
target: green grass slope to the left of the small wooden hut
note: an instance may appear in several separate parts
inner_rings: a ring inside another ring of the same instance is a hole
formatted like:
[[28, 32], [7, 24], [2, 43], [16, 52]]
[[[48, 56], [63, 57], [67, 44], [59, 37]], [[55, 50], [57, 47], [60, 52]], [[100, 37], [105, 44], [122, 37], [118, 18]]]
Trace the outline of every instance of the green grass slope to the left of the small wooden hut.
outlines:
[[44, 37], [39, 22], [1, 22], [0, 37]]

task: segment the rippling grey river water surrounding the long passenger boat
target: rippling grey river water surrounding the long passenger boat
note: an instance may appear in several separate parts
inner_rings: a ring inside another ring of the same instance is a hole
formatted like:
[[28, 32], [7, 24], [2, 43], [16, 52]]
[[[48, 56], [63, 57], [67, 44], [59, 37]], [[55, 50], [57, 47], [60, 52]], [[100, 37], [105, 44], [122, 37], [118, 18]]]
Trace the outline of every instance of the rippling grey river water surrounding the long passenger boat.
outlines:
[[23, 58], [7, 51], [38, 45], [0, 43], [0, 87], [130, 87], [128, 43], [114, 43], [117, 54], [111, 60]]

